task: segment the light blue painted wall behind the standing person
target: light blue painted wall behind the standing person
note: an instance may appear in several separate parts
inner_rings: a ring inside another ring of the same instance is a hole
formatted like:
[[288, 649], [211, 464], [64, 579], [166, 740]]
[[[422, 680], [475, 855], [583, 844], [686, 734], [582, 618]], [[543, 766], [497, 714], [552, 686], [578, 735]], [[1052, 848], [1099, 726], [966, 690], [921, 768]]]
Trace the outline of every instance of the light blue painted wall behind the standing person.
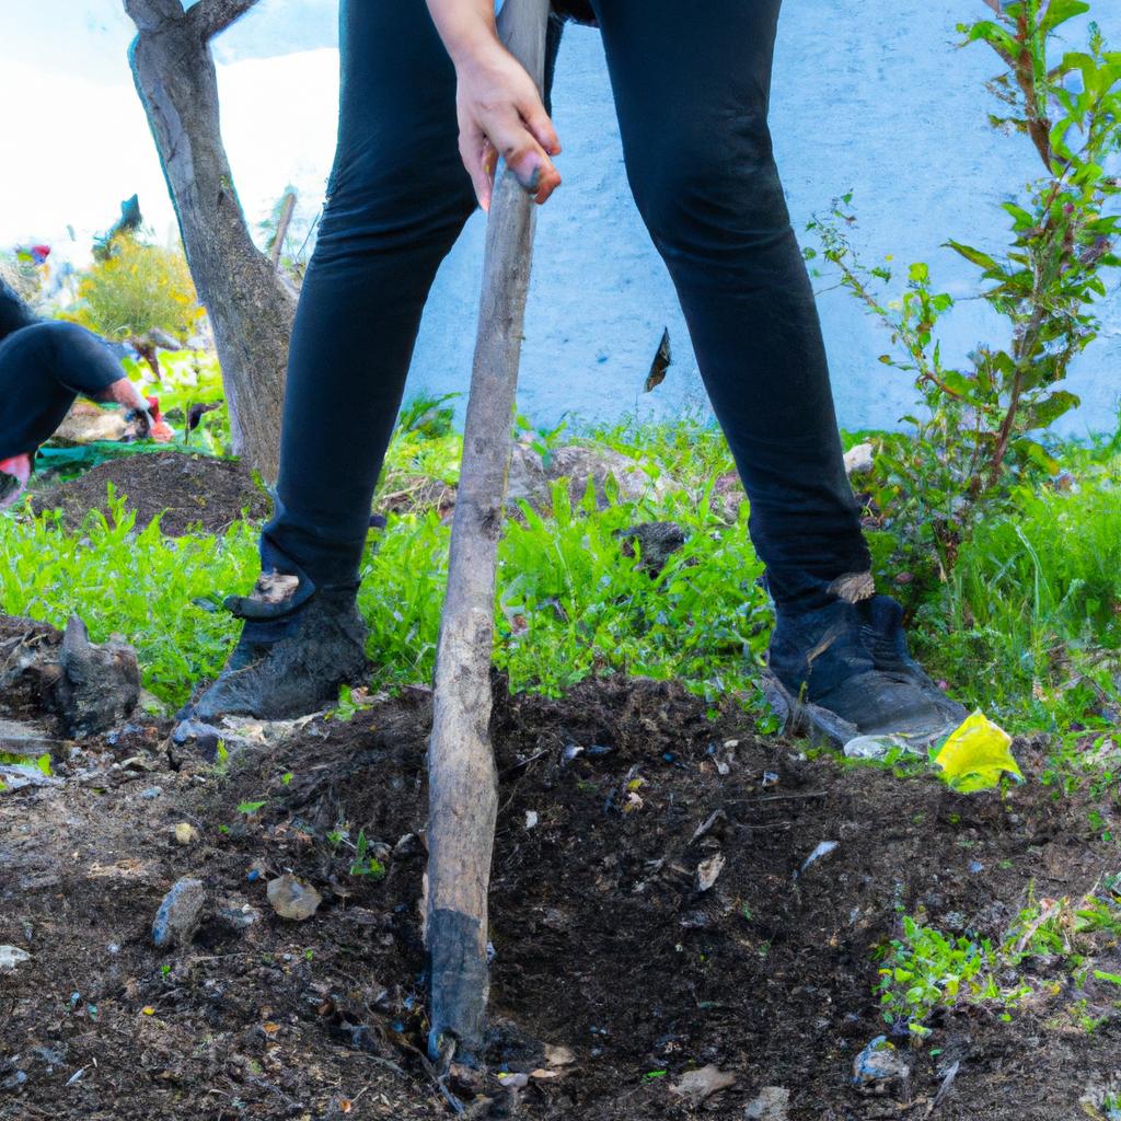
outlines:
[[[1121, 11], [1101, 0], [1095, 7], [1121, 46]], [[954, 237], [999, 249], [999, 203], [1038, 168], [1022, 138], [997, 135], [985, 119], [995, 56], [983, 45], [954, 47], [955, 24], [984, 13], [982, 0], [787, 0], [771, 92], [776, 155], [803, 243], [809, 215], [853, 188], [855, 241], [867, 261], [887, 253], [896, 265], [925, 260], [939, 288], [963, 298], [944, 321], [947, 361], [964, 359], [979, 340], [1001, 339], [1002, 325], [964, 299], [975, 290], [975, 270], [939, 243]], [[566, 410], [603, 419], [706, 407], [673, 288], [630, 198], [596, 31], [566, 30], [554, 102], [565, 182], [539, 212], [521, 407], [550, 424]], [[476, 215], [441, 271], [410, 391], [466, 388], [482, 234]], [[895, 426], [915, 397], [905, 374], [877, 361], [888, 350], [886, 333], [849, 294], [825, 290], [825, 279], [815, 287], [842, 426]], [[1114, 294], [1102, 313], [1102, 335], [1069, 381], [1084, 402], [1064, 420], [1071, 434], [1117, 423], [1121, 299]], [[674, 365], [646, 395], [664, 326]]]

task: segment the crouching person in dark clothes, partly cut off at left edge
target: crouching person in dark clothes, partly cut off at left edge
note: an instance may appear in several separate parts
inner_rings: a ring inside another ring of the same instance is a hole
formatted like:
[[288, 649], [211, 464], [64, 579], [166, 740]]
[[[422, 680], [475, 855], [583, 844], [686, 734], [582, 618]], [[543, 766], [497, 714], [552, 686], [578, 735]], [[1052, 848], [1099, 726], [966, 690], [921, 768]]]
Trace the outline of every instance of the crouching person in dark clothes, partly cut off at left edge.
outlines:
[[140, 437], [172, 438], [159, 401], [124, 377], [101, 339], [76, 323], [38, 319], [0, 279], [0, 509], [22, 493], [39, 445], [78, 396], [123, 406]]

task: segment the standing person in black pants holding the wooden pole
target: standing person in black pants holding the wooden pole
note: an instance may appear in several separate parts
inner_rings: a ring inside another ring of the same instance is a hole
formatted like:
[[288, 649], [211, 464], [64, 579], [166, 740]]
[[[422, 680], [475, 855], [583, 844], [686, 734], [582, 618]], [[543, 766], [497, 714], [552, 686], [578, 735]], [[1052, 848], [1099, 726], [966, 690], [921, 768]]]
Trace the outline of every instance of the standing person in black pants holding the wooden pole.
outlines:
[[[780, 2], [559, 15], [603, 36], [628, 179], [750, 499], [770, 673], [860, 733], [930, 739], [964, 710], [909, 656], [901, 608], [869, 572], [767, 123]], [[343, 0], [340, 18], [339, 143], [293, 331], [276, 511], [252, 594], [226, 600], [241, 637], [196, 720], [305, 714], [364, 674], [359, 564], [429, 287], [489, 207], [497, 154], [537, 203], [560, 183], [559, 140], [492, 0]]]

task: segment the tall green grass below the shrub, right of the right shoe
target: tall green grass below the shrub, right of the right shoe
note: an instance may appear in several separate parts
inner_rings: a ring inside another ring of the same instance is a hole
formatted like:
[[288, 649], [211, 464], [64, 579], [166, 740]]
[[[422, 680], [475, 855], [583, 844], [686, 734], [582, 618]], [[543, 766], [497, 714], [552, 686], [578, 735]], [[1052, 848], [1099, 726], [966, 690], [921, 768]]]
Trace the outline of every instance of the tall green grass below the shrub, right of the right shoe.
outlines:
[[1069, 491], [1017, 492], [961, 550], [919, 612], [920, 648], [1010, 731], [1117, 723], [1121, 675], [1121, 461]]

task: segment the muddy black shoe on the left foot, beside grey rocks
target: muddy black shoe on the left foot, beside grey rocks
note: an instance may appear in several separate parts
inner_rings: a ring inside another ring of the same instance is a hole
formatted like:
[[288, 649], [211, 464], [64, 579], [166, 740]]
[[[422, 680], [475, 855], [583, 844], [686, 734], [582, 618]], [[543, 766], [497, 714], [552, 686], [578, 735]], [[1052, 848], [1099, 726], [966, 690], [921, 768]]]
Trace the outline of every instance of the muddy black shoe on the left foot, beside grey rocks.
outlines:
[[244, 620], [225, 668], [186, 712], [213, 723], [221, 716], [291, 720], [334, 704], [339, 687], [369, 669], [367, 627], [358, 585], [315, 587], [299, 576], [262, 574], [250, 596], [225, 608]]

